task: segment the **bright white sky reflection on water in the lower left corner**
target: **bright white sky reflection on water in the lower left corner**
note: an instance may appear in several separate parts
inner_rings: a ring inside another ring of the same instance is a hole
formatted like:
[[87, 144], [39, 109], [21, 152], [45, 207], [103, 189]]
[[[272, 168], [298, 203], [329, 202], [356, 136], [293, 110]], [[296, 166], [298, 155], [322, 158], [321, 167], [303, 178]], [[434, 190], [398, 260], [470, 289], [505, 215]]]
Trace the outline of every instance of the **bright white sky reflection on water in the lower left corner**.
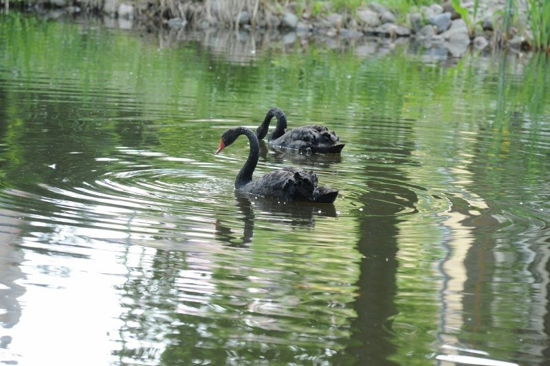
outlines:
[[[13, 216], [2, 213], [0, 217], [2, 227], [6, 220], [24, 225]], [[17, 233], [1, 233], [0, 238], [1, 281], [8, 288], [21, 289], [2, 297], [8, 322], [2, 314], [5, 350], [0, 361], [19, 365], [43, 365], [45, 360], [56, 360], [57, 365], [113, 362], [111, 350], [122, 311], [114, 288], [124, 282], [125, 273], [118, 253], [91, 251], [90, 243], [82, 247], [86, 240], [78, 236], [70, 242], [63, 235], [66, 245], [56, 248], [37, 246], [37, 237], [17, 239]]]

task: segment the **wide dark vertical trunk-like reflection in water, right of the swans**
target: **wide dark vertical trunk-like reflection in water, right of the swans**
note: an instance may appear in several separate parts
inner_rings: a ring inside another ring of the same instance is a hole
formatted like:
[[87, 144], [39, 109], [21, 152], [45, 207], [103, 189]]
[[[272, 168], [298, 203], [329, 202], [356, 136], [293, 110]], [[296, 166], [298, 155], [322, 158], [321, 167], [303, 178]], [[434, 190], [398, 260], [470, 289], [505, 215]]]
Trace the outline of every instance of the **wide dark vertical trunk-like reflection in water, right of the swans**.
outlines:
[[[376, 155], [392, 150], [395, 160], [391, 165], [369, 165], [364, 174], [373, 179], [364, 181], [367, 190], [360, 196], [366, 213], [358, 218], [361, 236], [357, 246], [362, 260], [357, 282], [359, 296], [353, 304], [357, 319], [352, 323], [352, 337], [358, 345], [349, 347], [348, 352], [361, 365], [399, 364], [391, 361], [391, 355], [397, 351], [392, 341], [392, 319], [397, 314], [398, 226], [402, 220], [399, 216], [404, 211], [417, 211], [417, 194], [408, 188], [410, 179], [406, 172], [399, 169], [413, 163], [410, 124], [395, 124], [391, 134], [387, 133], [387, 127], [381, 128], [388, 137], [366, 139], [366, 153]], [[379, 135], [376, 129], [371, 134]]]

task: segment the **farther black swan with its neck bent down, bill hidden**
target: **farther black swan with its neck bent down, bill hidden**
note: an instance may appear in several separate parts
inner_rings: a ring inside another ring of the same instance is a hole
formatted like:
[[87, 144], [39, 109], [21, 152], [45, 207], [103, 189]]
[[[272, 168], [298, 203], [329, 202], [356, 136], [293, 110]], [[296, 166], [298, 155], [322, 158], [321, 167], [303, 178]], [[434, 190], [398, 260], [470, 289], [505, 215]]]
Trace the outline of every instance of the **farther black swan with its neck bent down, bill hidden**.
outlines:
[[329, 129], [316, 124], [287, 129], [287, 116], [279, 108], [271, 108], [265, 115], [262, 124], [256, 128], [256, 137], [263, 139], [270, 128], [273, 117], [277, 118], [277, 126], [269, 137], [269, 144], [278, 148], [289, 148], [300, 152], [334, 152], [339, 153], [344, 148], [340, 137]]

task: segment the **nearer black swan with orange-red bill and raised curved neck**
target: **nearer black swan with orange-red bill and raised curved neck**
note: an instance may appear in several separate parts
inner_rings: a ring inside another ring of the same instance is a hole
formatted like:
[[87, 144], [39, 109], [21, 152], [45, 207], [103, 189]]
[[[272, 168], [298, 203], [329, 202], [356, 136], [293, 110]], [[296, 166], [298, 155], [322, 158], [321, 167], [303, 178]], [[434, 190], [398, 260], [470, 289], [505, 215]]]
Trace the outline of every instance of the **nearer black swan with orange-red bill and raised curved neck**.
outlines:
[[338, 190], [329, 187], [317, 187], [317, 175], [299, 168], [275, 170], [252, 181], [252, 173], [258, 163], [260, 144], [252, 130], [246, 127], [230, 128], [221, 135], [221, 150], [233, 144], [237, 137], [246, 135], [250, 141], [250, 153], [239, 174], [236, 174], [235, 188], [261, 197], [279, 198], [284, 201], [310, 201], [333, 203]]

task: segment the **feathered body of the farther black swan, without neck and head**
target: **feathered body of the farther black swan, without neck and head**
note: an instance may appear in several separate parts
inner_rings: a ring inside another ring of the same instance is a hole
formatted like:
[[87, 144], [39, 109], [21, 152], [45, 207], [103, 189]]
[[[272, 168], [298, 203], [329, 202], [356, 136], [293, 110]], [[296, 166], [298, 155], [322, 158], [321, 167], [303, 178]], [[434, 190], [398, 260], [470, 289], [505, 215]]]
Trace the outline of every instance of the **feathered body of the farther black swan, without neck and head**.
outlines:
[[333, 152], [338, 153], [344, 148], [340, 137], [328, 128], [311, 125], [287, 130], [278, 139], [270, 139], [270, 144], [282, 148], [290, 148], [304, 152]]

